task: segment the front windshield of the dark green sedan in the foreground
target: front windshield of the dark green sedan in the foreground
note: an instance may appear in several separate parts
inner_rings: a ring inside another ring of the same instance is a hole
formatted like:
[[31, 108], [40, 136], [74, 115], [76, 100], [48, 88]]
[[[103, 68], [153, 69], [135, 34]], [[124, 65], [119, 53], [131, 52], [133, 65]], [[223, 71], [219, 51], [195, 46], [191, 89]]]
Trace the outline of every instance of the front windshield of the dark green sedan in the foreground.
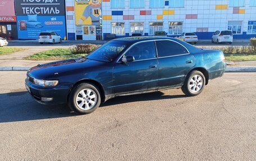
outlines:
[[122, 52], [127, 46], [126, 42], [113, 40], [109, 43], [102, 45], [102, 47], [94, 50], [86, 58], [95, 61], [111, 62], [118, 54]]

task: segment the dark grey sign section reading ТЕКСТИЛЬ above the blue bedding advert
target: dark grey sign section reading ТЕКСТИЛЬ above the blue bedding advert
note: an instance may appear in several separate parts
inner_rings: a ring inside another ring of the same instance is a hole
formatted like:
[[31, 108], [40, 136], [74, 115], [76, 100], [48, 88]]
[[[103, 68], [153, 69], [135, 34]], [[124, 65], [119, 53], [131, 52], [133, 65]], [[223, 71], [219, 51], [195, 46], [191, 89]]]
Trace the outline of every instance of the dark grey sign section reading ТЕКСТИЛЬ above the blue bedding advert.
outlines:
[[16, 0], [16, 15], [63, 16], [64, 0]]

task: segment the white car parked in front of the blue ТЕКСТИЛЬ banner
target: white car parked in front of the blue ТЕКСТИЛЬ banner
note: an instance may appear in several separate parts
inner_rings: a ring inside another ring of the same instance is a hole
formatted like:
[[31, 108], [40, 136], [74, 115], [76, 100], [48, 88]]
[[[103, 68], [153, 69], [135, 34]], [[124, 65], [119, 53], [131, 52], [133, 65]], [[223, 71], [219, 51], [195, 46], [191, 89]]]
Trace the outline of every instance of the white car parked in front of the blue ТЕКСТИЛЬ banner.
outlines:
[[43, 43], [62, 43], [61, 36], [55, 32], [42, 32], [39, 34], [38, 42]]

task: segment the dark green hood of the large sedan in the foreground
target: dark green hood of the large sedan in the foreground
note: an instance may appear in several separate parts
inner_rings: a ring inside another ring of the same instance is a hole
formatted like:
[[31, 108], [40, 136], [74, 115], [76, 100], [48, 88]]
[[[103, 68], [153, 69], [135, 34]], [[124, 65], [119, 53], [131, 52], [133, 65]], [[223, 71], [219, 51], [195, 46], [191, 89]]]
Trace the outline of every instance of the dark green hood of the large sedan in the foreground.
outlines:
[[67, 73], [86, 72], [106, 62], [93, 61], [86, 58], [67, 59], [63, 61], [46, 63], [30, 68], [28, 74], [36, 79], [53, 79]]

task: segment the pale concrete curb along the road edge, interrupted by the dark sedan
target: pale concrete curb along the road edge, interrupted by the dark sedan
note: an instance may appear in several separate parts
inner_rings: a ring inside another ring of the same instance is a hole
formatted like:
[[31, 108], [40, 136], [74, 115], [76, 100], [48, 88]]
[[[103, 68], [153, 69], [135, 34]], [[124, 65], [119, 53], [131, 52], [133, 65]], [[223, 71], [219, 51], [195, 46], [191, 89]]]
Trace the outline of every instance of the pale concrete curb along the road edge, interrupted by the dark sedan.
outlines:
[[[0, 71], [28, 71], [31, 67], [0, 67]], [[256, 72], [256, 67], [227, 67], [226, 72]]]

